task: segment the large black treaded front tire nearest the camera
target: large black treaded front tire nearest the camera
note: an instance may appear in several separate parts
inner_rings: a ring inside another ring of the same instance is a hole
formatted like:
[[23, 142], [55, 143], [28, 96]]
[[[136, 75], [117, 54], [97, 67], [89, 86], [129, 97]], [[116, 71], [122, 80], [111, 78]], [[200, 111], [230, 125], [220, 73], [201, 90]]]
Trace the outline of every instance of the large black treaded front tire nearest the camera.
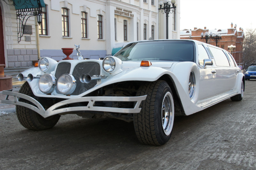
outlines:
[[[140, 113], [133, 114], [135, 133], [141, 143], [163, 145], [169, 141], [172, 134], [174, 119], [172, 91], [166, 81], [160, 80], [143, 84], [137, 96], [143, 95], [147, 95], [147, 98], [140, 104]], [[163, 108], [169, 108], [170, 112], [164, 112]], [[167, 113], [169, 119], [166, 114], [165, 119], [162, 119], [162, 113]], [[169, 126], [165, 126], [164, 122]]]

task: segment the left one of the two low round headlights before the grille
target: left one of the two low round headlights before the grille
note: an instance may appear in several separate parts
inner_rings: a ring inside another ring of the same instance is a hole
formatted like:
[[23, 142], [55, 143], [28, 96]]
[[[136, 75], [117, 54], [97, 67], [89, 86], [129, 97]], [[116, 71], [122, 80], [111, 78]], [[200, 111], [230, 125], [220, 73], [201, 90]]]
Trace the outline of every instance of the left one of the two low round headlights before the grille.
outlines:
[[56, 79], [52, 74], [44, 74], [39, 79], [38, 87], [45, 94], [50, 94], [55, 89]]

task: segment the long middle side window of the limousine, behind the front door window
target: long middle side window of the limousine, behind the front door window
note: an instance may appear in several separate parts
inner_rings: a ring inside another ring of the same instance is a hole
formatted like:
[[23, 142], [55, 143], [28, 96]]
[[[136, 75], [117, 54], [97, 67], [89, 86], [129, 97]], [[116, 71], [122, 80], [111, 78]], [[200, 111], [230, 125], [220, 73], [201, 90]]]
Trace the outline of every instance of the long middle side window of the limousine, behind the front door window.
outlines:
[[216, 66], [230, 66], [228, 58], [222, 50], [213, 47], [209, 47], [209, 49], [212, 51]]

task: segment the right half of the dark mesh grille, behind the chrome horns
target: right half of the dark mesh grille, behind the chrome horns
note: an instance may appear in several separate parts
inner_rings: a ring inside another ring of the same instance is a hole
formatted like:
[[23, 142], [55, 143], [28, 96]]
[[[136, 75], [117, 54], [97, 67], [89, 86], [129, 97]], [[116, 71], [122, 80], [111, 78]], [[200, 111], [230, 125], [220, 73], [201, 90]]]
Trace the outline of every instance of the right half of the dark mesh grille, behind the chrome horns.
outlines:
[[100, 75], [100, 64], [96, 62], [82, 62], [78, 63], [72, 75], [76, 79], [76, 89], [71, 95], [79, 95], [91, 88], [93, 88], [97, 84], [97, 80], [92, 80], [90, 83], [82, 83], [80, 81], [81, 74], [89, 74], [90, 76], [93, 75]]

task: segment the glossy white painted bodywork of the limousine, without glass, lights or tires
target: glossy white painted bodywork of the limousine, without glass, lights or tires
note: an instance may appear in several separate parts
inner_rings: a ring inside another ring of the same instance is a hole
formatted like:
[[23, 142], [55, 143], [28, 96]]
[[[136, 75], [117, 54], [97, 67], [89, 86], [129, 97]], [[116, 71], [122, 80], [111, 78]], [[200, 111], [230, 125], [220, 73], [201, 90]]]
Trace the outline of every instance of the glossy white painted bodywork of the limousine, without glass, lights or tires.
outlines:
[[[199, 43], [197, 41], [192, 41], [195, 44]], [[201, 43], [201, 42], [200, 42]], [[204, 46], [209, 45], [203, 43]], [[196, 47], [196, 45], [195, 45]], [[201, 111], [207, 107], [212, 106], [220, 101], [223, 101], [229, 97], [235, 96], [241, 93], [241, 83], [244, 80], [244, 74], [241, 72], [237, 72], [239, 68], [236, 67], [217, 67], [213, 61], [212, 66], [206, 66], [203, 68], [199, 66], [198, 62], [179, 62], [179, 61], [157, 61], [150, 60], [152, 66], [143, 67], [140, 66], [141, 61], [121, 61], [119, 58], [113, 57], [116, 60], [117, 66], [113, 73], [107, 73], [102, 69], [102, 60], [88, 60], [90, 62], [97, 62], [100, 64], [100, 75], [108, 76], [106, 79], [101, 79], [97, 82], [97, 85], [88, 89], [84, 93], [81, 93], [76, 96], [66, 96], [62, 94], [58, 94], [56, 91], [52, 92], [51, 95], [46, 95], [41, 92], [38, 88], [39, 79], [34, 79], [31, 82], [28, 82], [34, 95], [37, 97], [47, 97], [47, 98], [63, 98], [63, 99], [76, 99], [80, 97], [84, 97], [85, 95], [105, 87], [109, 84], [114, 84], [118, 82], [126, 82], [126, 81], [156, 81], [160, 77], [166, 75], [172, 81], [177, 96], [181, 102], [182, 108], [186, 115], [193, 114], [195, 112]], [[147, 60], [147, 59], [145, 59]], [[83, 60], [82, 62], [88, 62], [87, 60]], [[196, 49], [196, 61], [198, 61], [198, 51]], [[76, 66], [77, 62], [81, 62], [79, 60], [66, 60], [61, 62], [70, 62], [71, 69], [73, 70]], [[58, 64], [59, 64], [58, 63]], [[56, 64], [56, 63], [54, 63]], [[55, 66], [55, 65], [54, 65]], [[57, 67], [51, 68], [48, 73], [54, 75]], [[193, 71], [195, 73], [196, 78], [196, 88], [195, 94], [193, 98], [189, 97], [188, 94], [188, 83], [190, 72]], [[216, 71], [216, 73], [212, 73], [212, 71]], [[44, 74], [39, 68], [31, 68], [29, 70], [24, 71], [22, 74], [27, 76], [29, 73], [33, 74], [33, 76]], [[72, 72], [71, 72], [72, 74]], [[91, 75], [92, 76], [92, 75]], [[79, 80], [76, 80], [79, 81]], [[3, 92], [3, 94], [7, 94], [7, 92]], [[15, 95], [15, 92], [8, 92], [8, 95]], [[141, 100], [141, 99], [140, 99]], [[70, 100], [67, 100], [70, 101]], [[2, 100], [3, 102], [7, 102], [6, 100]], [[15, 102], [8, 103], [17, 104]], [[32, 108], [31, 108], [32, 109]], [[80, 108], [81, 109], [81, 108]], [[65, 109], [64, 109], [65, 110]], [[138, 108], [137, 108], [138, 110]], [[71, 111], [66, 109], [66, 111]], [[100, 110], [98, 110], [100, 111]], [[104, 110], [102, 110], [104, 111]], [[39, 111], [38, 111], [39, 112]], [[50, 112], [50, 111], [49, 111]], [[51, 113], [47, 113], [46, 117], [51, 116]], [[54, 113], [58, 114], [60, 112]], [[40, 113], [39, 113], [40, 114]], [[41, 113], [42, 116], [45, 117], [44, 113]]]

